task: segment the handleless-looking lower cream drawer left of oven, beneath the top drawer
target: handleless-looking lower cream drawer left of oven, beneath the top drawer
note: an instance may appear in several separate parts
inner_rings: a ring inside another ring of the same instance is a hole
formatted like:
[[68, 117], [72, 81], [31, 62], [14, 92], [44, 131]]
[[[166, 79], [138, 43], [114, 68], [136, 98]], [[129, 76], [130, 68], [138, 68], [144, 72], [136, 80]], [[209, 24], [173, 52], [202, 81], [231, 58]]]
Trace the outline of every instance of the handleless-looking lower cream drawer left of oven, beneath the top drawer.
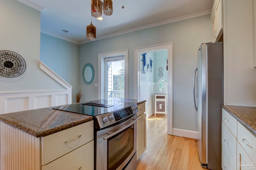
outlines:
[[54, 160], [50, 164], [42, 166], [42, 170], [93, 170], [93, 143], [93, 141], [90, 141], [82, 147], [73, 150], [72, 152], [58, 158], [57, 160]]

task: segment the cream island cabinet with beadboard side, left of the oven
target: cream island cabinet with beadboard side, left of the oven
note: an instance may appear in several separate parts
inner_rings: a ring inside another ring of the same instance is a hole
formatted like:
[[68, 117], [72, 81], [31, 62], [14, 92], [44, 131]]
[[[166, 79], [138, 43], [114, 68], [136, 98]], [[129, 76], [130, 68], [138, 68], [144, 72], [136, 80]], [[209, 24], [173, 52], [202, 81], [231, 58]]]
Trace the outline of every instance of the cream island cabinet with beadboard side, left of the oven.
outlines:
[[93, 121], [39, 138], [0, 122], [0, 143], [0, 170], [94, 170]]

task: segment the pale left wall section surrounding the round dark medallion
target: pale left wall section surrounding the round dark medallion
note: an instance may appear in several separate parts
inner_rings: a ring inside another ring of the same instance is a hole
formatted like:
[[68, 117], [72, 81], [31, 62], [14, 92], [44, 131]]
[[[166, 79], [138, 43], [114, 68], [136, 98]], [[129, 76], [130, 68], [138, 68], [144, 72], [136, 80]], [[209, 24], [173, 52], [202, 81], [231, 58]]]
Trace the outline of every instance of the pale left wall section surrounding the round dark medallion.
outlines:
[[17, 0], [1, 0], [0, 16], [0, 51], [14, 51], [26, 61], [21, 76], [0, 76], [0, 91], [64, 89], [39, 68], [40, 12]]

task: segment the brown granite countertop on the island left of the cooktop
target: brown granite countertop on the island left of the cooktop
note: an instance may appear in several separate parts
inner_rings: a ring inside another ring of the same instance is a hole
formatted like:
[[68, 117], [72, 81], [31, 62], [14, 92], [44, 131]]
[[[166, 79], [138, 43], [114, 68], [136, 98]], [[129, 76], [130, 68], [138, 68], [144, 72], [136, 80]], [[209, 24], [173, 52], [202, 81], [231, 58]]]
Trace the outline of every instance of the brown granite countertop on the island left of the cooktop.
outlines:
[[0, 114], [0, 121], [35, 137], [50, 135], [91, 120], [92, 116], [50, 109]]

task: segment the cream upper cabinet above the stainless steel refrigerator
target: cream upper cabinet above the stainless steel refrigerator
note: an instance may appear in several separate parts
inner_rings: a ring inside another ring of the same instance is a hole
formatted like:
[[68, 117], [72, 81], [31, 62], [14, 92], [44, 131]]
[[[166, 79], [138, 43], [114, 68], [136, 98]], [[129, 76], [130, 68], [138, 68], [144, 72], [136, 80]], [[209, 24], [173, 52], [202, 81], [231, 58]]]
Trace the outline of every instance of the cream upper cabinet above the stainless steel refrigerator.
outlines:
[[212, 42], [222, 41], [223, 34], [223, 0], [214, 0], [212, 6]]

